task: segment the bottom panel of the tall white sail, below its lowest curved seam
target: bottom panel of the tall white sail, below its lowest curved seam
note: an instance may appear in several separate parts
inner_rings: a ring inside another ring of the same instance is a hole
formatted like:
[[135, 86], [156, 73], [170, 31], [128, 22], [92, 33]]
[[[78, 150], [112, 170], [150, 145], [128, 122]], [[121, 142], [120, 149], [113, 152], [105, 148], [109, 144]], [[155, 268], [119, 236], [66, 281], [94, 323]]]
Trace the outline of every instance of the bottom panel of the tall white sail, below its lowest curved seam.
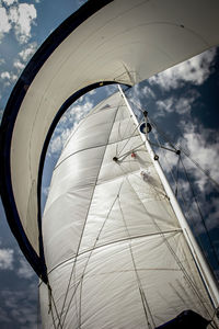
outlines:
[[[54, 283], [53, 296], [59, 315], [67, 296], [65, 327], [77, 328], [81, 322], [82, 328], [150, 328], [148, 322], [162, 325], [187, 308], [209, 319], [212, 310], [208, 296], [183, 235], [169, 234], [165, 239], [153, 236], [103, 246], [53, 271], [49, 281]], [[51, 316], [47, 309], [43, 314], [44, 327], [50, 328]]]

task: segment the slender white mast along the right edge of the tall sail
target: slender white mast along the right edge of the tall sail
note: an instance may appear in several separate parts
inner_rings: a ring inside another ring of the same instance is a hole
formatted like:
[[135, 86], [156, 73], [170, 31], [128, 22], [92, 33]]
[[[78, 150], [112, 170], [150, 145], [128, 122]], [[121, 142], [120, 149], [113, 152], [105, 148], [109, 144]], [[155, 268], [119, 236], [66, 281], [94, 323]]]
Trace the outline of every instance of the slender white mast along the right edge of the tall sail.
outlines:
[[[120, 86], [118, 86], [118, 90], [119, 90], [122, 97], [125, 100], [125, 103], [126, 103], [126, 105], [127, 105], [127, 107], [130, 112], [130, 115], [132, 116], [132, 120], [134, 120], [135, 124], [138, 126], [139, 123], [136, 118], [136, 115], [134, 114], [132, 109], [131, 109], [125, 93], [123, 92]], [[153, 162], [153, 166], [157, 170], [157, 173], [158, 173], [158, 175], [159, 175], [159, 178], [160, 178], [160, 180], [163, 184], [165, 193], [170, 198], [170, 203], [172, 205], [172, 208], [173, 208], [173, 211], [174, 211], [174, 213], [175, 213], [175, 215], [178, 219], [178, 223], [182, 227], [184, 237], [185, 237], [185, 239], [187, 241], [187, 245], [191, 249], [191, 252], [192, 252], [192, 254], [195, 259], [196, 265], [198, 266], [201, 279], [205, 282], [205, 285], [206, 285], [207, 291], [208, 291], [208, 293], [211, 297], [214, 306], [216, 308], [218, 308], [218, 305], [219, 305], [219, 288], [218, 288], [218, 285], [216, 283], [216, 280], [214, 277], [214, 274], [212, 274], [211, 270], [209, 269], [208, 263], [206, 262], [206, 259], [205, 259], [198, 243], [196, 242], [196, 239], [194, 238], [194, 235], [193, 235], [193, 232], [192, 232], [192, 230], [191, 230], [191, 228], [187, 224], [187, 220], [186, 220], [186, 218], [185, 218], [185, 216], [184, 216], [184, 214], [183, 214], [183, 212], [182, 212], [182, 209], [178, 205], [178, 202], [177, 202], [177, 200], [176, 200], [176, 197], [175, 197], [175, 195], [174, 195], [174, 193], [173, 193], [173, 191], [172, 191], [172, 189], [171, 189], [171, 186], [170, 186], [170, 184], [169, 184], [169, 182], [165, 178], [165, 174], [163, 173], [163, 170], [162, 170], [161, 166], [159, 164], [158, 160], [154, 159], [155, 155], [154, 155], [154, 152], [153, 152], [153, 150], [150, 146], [149, 140], [147, 139], [147, 135], [145, 135], [145, 134], [140, 134], [140, 135], [141, 135], [141, 138], [145, 141], [146, 148], [147, 148], [147, 150], [150, 155], [151, 161]]]

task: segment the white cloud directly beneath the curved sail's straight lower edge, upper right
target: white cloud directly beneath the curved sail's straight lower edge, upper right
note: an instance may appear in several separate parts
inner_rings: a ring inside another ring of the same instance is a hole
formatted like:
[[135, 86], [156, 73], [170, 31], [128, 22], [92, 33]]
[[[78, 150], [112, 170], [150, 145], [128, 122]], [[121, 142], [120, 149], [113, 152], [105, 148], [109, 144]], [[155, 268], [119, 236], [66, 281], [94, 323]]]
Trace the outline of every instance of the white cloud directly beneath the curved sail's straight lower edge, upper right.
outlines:
[[148, 81], [151, 84], [158, 84], [165, 91], [183, 87], [186, 82], [200, 86], [210, 75], [215, 56], [216, 48], [211, 48], [151, 77]]

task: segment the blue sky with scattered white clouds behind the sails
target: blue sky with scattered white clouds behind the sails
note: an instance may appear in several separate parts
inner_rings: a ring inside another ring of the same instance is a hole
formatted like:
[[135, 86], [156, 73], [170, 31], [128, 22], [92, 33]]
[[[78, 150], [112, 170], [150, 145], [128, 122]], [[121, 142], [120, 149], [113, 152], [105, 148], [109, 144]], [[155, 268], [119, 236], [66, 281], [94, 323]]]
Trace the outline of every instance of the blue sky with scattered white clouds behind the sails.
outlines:
[[[0, 118], [22, 70], [46, 37], [84, 1], [0, 0]], [[211, 48], [128, 90], [130, 104], [149, 113], [152, 143], [180, 146], [182, 161], [154, 146], [173, 190], [219, 279], [219, 48]], [[49, 145], [44, 169], [45, 205], [53, 168], [69, 134], [95, 104], [117, 91], [114, 86], [80, 98], [61, 117]], [[191, 155], [188, 157], [184, 155]], [[201, 170], [194, 164], [197, 162]], [[186, 180], [186, 168], [192, 191]], [[178, 169], [177, 169], [178, 168]], [[193, 193], [194, 192], [194, 193]], [[194, 196], [195, 195], [195, 196]], [[43, 212], [43, 209], [42, 209]], [[208, 234], [206, 234], [205, 226]], [[209, 241], [210, 237], [210, 241]], [[0, 328], [37, 328], [38, 279], [22, 256], [0, 204]]]

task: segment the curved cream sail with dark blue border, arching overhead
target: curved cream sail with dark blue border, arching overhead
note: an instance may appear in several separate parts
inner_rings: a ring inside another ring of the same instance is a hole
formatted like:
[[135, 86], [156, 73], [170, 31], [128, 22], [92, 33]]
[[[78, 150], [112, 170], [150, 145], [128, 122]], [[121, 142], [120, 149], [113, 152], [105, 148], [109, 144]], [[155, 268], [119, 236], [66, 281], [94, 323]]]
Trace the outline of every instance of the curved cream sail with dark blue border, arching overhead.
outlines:
[[38, 275], [43, 163], [69, 98], [100, 81], [134, 84], [218, 45], [218, 12], [216, 0], [88, 1], [30, 61], [3, 116], [0, 173], [8, 220]]

